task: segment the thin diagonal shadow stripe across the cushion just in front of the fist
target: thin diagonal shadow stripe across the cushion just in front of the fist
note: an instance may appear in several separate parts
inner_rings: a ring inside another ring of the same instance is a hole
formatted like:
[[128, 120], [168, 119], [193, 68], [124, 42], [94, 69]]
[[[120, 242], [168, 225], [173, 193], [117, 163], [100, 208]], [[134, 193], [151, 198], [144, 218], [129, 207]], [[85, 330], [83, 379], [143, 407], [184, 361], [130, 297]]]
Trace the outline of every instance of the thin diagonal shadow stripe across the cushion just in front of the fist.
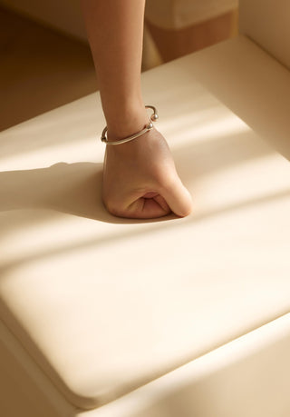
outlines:
[[[281, 191], [279, 193], [275, 193], [275, 194], [271, 194], [271, 195], [266, 195], [266, 196], [262, 196], [262, 197], [256, 197], [253, 199], [247, 199], [243, 202], [240, 203], [236, 203], [236, 204], [232, 204], [232, 205], [228, 205], [226, 207], [221, 207], [220, 209], [215, 209], [215, 210], [208, 210], [205, 213], [200, 213], [200, 214], [193, 214], [190, 217], [188, 217], [187, 219], [183, 219], [182, 223], [179, 222], [174, 222], [174, 223], [170, 223], [170, 227], [172, 229], [174, 228], [180, 228], [180, 227], [189, 227], [189, 223], [199, 223], [202, 222], [204, 220], [208, 220], [214, 217], [217, 217], [219, 215], [224, 215], [226, 213], [232, 213], [238, 210], [242, 210], [243, 208], [247, 208], [247, 207], [251, 207], [254, 205], [263, 205], [263, 204], [267, 204], [270, 202], [274, 202], [277, 199], [286, 199], [290, 197], [290, 189]], [[168, 224], [167, 224], [168, 225]], [[164, 224], [159, 223], [158, 225], [150, 225], [150, 227], [148, 227], [146, 230], [143, 229], [142, 230], [142, 234], [149, 234], [149, 233], [158, 233], [160, 232], [160, 230], [162, 230], [165, 227]], [[60, 253], [68, 253], [68, 252], [74, 252], [74, 251], [78, 251], [80, 249], [83, 248], [88, 248], [88, 247], [93, 247], [93, 246], [97, 246], [100, 245], [102, 243], [102, 247], [104, 244], [108, 244], [111, 241], [123, 241], [125, 239], [131, 239], [134, 236], [137, 236], [140, 234], [140, 230], [135, 230], [135, 231], [131, 231], [128, 233], [122, 233], [121, 235], [110, 235], [108, 237], [103, 237], [100, 239], [90, 239], [87, 240], [85, 242], [82, 243], [72, 243], [72, 244], [67, 244], [65, 247], [60, 248], [54, 248], [53, 250], [49, 250], [49, 251], [43, 251], [43, 253], [34, 253], [32, 255], [26, 256], [23, 259], [18, 259], [17, 261], [11, 262], [11, 263], [4, 263], [1, 268], [0, 268], [0, 276], [5, 275], [5, 273], [7, 273], [10, 269], [14, 269], [16, 267], [19, 267], [21, 265], [23, 265], [24, 263], [29, 263], [31, 261], [36, 261], [36, 260], [40, 260], [43, 258], [47, 258], [53, 255], [59, 255]]]

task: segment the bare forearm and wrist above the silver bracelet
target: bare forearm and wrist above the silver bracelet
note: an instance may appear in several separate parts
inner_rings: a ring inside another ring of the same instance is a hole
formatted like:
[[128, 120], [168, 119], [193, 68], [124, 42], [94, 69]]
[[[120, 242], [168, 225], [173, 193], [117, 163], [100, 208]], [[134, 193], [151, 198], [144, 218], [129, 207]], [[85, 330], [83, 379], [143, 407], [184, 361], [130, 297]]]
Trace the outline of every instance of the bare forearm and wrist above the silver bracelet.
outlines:
[[145, 0], [82, 0], [109, 137], [148, 120], [140, 88], [144, 7]]

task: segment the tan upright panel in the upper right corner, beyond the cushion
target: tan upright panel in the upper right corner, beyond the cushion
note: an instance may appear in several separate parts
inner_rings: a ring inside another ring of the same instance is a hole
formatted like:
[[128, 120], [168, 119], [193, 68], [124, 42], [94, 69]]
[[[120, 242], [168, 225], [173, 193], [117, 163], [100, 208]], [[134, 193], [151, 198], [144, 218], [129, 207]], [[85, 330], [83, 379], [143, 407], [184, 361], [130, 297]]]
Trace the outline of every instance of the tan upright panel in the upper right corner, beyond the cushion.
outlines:
[[240, 0], [240, 31], [290, 69], [290, 1]]

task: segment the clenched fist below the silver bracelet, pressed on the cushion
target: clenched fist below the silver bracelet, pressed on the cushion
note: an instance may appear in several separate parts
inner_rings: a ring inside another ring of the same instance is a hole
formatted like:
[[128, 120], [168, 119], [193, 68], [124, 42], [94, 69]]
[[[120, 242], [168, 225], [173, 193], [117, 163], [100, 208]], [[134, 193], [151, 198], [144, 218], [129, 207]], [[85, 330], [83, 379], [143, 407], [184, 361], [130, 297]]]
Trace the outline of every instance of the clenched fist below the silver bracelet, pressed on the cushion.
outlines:
[[110, 213], [127, 218], [156, 218], [171, 212], [184, 217], [192, 208], [169, 146], [156, 129], [126, 144], [107, 145], [102, 199]]

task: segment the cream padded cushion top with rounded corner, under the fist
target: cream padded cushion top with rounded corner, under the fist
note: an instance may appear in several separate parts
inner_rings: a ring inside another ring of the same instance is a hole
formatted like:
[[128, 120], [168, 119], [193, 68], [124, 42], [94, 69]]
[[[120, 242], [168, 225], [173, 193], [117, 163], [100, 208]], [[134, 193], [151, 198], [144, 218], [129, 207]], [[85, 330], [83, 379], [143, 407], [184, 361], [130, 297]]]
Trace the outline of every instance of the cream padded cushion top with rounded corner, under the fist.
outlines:
[[1, 313], [80, 408], [290, 307], [290, 164], [275, 151], [290, 134], [290, 74], [240, 37], [142, 83], [194, 197], [188, 218], [104, 211], [98, 94], [1, 134]]

